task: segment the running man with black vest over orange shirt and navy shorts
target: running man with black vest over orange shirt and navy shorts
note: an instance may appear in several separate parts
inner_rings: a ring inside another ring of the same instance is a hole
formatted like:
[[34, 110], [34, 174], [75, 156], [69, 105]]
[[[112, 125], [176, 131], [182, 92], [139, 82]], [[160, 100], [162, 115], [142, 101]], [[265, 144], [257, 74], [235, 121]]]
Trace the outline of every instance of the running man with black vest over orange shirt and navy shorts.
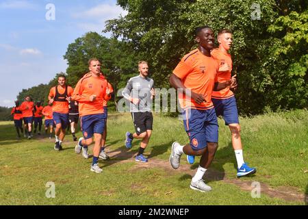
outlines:
[[49, 92], [49, 104], [53, 104], [53, 121], [55, 123], [55, 151], [62, 150], [65, 129], [68, 126], [68, 101], [73, 94], [73, 88], [66, 85], [65, 75], [57, 77], [58, 85]]

